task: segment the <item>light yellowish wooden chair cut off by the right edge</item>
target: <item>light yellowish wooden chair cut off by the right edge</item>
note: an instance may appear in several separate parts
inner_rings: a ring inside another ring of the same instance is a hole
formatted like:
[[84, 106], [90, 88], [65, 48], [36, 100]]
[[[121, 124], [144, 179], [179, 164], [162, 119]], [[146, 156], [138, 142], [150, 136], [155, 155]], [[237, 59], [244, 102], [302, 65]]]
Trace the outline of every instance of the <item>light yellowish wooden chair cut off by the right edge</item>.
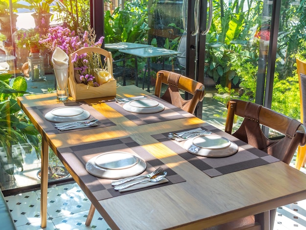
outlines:
[[[306, 110], [306, 63], [297, 58], [296, 64], [300, 88], [301, 122], [306, 124], [306, 116], [304, 117], [304, 111]], [[301, 166], [305, 167], [305, 161], [306, 146], [299, 146], [295, 160], [295, 168], [300, 170]]]

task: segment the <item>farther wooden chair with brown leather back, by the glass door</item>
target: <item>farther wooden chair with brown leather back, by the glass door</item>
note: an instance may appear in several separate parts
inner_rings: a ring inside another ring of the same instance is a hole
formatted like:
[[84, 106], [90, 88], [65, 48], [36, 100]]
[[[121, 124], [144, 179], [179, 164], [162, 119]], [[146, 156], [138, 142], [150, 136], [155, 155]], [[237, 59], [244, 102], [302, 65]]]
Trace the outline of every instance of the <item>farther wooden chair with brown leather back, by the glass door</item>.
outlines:
[[[204, 98], [205, 87], [191, 78], [185, 77], [175, 72], [160, 70], [156, 74], [155, 96], [175, 105], [182, 110], [193, 114], [196, 110], [197, 103]], [[166, 92], [160, 96], [162, 83], [167, 84]], [[192, 94], [192, 98], [184, 100], [179, 90]]]

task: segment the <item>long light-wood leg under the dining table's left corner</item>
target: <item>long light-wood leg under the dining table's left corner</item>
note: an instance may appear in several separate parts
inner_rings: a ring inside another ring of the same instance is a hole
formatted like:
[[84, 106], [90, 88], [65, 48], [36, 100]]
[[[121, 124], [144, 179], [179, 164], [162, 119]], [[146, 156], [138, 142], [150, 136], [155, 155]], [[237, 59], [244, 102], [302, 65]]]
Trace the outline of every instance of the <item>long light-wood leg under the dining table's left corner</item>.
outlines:
[[42, 138], [41, 162], [41, 227], [47, 227], [47, 193], [48, 193], [48, 155], [49, 146]]

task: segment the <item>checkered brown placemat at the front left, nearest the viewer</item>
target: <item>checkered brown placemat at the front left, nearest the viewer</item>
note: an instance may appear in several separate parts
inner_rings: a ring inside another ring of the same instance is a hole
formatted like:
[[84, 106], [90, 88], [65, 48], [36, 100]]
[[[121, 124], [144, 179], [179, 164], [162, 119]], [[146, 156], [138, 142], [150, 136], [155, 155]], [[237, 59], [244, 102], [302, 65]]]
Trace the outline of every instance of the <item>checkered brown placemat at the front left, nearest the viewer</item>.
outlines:
[[[89, 174], [85, 167], [86, 162], [91, 158], [102, 153], [112, 151], [128, 152], [145, 160], [147, 163], [147, 168], [142, 174], [153, 172], [159, 166], [163, 167], [167, 172], [166, 178], [169, 180], [169, 182], [126, 192], [119, 192], [114, 190], [113, 186], [111, 185], [113, 180], [95, 177]], [[79, 176], [83, 186], [86, 186], [97, 200], [104, 200], [123, 194], [152, 189], [154, 187], [185, 182], [185, 180], [176, 174], [175, 171], [173, 171], [171, 168], [168, 168], [162, 161], [155, 158], [152, 154], [147, 152], [130, 137], [59, 148], [58, 152], [61, 154], [59, 158], [61, 158], [61, 160], [65, 161], [70, 166], [72, 171], [74, 171], [75, 174]], [[84, 188], [82, 189], [84, 190]]]

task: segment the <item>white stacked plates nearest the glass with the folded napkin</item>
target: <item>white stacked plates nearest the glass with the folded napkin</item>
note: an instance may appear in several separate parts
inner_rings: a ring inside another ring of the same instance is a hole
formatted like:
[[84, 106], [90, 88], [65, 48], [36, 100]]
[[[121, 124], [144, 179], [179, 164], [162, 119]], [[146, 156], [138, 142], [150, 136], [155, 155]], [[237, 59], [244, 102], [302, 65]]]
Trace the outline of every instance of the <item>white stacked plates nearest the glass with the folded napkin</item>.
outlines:
[[66, 122], [66, 121], [77, 121], [85, 120], [90, 116], [89, 112], [78, 107], [59, 107], [49, 111], [44, 115], [49, 121], [53, 122]]

